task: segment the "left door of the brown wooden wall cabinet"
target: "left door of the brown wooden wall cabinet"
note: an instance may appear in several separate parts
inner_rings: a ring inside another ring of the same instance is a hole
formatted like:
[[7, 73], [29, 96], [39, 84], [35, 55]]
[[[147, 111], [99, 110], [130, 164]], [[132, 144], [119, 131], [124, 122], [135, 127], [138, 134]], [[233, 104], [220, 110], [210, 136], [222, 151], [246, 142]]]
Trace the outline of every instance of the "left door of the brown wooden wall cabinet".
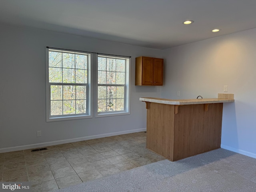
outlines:
[[154, 58], [142, 58], [142, 85], [153, 85]]

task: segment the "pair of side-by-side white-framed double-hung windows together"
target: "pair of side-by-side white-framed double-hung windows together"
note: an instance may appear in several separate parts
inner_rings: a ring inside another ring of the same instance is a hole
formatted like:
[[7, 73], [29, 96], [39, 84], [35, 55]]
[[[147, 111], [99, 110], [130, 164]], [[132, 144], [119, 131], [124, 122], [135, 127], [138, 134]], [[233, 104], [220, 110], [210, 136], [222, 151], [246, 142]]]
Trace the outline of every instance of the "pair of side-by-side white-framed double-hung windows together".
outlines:
[[46, 121], [130, 114], [130, 58], [46, 48]]

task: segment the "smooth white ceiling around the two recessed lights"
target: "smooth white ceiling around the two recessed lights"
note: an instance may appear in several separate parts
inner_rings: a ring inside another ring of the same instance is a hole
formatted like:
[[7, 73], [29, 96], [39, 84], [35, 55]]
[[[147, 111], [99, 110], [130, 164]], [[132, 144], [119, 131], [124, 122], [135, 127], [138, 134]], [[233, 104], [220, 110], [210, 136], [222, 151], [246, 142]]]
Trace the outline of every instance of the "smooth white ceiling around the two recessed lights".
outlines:
[[256, 28], [256, 0], [0, 0], [0, 23], [166, 49]]

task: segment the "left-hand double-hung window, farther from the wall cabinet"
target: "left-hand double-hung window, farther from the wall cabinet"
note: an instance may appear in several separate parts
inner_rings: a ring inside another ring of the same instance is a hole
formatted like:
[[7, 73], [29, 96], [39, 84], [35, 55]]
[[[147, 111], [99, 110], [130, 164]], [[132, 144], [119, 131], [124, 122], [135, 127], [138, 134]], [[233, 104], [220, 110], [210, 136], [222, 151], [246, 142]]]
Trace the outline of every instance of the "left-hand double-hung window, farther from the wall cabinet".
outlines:
[[48, 50], [47, 120], [90, 116], [90, 54]]

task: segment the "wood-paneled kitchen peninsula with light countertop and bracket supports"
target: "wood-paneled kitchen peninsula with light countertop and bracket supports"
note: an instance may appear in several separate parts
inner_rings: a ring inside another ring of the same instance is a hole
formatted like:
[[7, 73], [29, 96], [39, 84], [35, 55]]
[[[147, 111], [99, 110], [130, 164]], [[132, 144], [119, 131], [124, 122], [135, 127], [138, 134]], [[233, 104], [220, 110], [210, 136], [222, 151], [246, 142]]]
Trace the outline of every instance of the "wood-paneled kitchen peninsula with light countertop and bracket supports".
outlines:
[[213, 99], [140, 98], [147, 109], [147, 148], [171, 161], [220, 148], [222, 108], [234, 94]]

